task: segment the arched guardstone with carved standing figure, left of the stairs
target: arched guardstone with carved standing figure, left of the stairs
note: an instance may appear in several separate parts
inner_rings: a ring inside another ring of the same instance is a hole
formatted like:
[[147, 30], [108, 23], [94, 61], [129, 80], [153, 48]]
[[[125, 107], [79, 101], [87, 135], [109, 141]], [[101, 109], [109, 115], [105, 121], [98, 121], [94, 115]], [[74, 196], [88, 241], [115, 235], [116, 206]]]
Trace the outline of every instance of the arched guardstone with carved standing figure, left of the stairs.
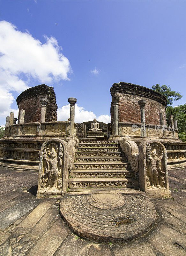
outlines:
[[41, 147], [37, 197], [62, 195], [68, 186], [67, 171], [67, 143], [47, 140]]

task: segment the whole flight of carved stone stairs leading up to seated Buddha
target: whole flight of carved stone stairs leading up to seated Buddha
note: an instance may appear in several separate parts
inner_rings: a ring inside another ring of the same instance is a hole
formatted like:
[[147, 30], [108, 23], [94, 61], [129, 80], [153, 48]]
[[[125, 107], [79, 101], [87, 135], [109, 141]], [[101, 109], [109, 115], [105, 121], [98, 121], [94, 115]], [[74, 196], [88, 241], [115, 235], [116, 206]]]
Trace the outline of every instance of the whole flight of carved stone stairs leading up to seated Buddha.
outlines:
[[69, 178], [69, 188], [138, 188], [135, 172], [118, 141], [82, 139]]

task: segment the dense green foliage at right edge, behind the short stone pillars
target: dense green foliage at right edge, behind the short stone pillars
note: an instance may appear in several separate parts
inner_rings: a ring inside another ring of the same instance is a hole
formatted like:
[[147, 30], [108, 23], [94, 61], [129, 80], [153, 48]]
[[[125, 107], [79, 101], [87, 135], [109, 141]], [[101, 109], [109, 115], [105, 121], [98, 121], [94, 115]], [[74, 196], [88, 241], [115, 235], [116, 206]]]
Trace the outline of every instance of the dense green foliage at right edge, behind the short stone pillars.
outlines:
[[186, 103], [175, 108], [168, 106], [166, 109], [166, 119], [173, 116], [178, 123], [179, 139], [186, 142]]

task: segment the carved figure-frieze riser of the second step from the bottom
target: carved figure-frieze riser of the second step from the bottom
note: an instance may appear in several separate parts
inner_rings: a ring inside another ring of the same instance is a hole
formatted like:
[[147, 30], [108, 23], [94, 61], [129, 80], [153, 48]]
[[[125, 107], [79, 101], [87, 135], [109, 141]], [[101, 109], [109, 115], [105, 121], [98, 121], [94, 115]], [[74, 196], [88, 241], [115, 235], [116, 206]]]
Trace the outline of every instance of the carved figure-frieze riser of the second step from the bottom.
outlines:
[[71, 172], [71, 177], [125, 177], [134, 178], [135, 172]]

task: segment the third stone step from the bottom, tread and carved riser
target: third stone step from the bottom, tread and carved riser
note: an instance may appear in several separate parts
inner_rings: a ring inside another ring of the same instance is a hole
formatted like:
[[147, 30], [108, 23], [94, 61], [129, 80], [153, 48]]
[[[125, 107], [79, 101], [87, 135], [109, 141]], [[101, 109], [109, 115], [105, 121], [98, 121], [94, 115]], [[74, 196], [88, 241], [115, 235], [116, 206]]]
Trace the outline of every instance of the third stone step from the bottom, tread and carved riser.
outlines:
[[126, 168], [130, 168], [130, 163], [121, 163], [121, 162], [84, 162], [74, 163], [73, 169], [123, 169], [126, 170]]

